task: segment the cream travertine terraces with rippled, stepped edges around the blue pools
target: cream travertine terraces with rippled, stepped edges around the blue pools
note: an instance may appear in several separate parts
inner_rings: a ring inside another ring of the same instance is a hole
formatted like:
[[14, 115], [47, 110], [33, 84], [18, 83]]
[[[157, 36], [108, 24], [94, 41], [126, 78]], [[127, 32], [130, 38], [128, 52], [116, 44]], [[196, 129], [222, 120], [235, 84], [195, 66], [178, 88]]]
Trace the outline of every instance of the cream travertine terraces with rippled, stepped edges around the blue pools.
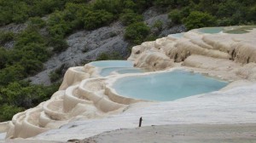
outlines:
[[[163, 37], [133, 47], [128, 60], [148, 72], [183, 68], [201, 72], [231, 83], [224, 90], [255, 83], [256, 29], [244, 34], [188, 31], [183, 37]], [[67, 70], [59, 91], [40, 105], [0, 123], [6, 138], [28, 138], [78, 119], [109, 117], [130, 109], [136, 100], [119, 96], [111, 84], [119, 77], [150, 73], [131, 73], [101, 77], [99, 68], [87, 64]], [[189, 102], [188, 100], [186, 102]], [[166, 103], [167, 104], [167, 103]]]

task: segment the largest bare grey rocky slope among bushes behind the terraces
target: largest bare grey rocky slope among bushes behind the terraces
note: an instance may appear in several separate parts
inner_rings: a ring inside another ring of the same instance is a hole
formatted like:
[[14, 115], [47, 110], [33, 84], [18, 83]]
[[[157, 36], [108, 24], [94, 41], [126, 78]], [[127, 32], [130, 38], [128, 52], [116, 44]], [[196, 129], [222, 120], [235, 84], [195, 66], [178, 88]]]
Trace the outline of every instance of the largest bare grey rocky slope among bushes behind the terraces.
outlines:
[[118, 51], [122, 57], [127, 56], [128, 43], [124, 40], [124, 26], [119, 22], [112, 26], [105, 26], [95, 31], [78, 31], [67, 37], [69, 48], [55, 54], [46, 63], [45, 70], [34, 77], [29, 77], [32, 83], [50, 84], [49, 72], [64, 66], [64, 72], [68, 67], [80, 66], [84, 63], [96, 60], [101, 53], [113, 53]]

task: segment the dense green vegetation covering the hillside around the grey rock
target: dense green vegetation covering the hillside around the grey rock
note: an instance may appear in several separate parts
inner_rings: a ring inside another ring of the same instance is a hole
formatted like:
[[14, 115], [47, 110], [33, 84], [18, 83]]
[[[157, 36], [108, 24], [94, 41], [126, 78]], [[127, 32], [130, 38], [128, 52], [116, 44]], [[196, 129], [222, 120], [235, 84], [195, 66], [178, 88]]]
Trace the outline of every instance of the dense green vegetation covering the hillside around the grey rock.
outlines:
[[[52, 54], [67, 49], [65, 37], [120, 20], [126, 26], [125, 40], [130, 47], [154, 39], [157, 33], [143, 23], [142, 15], [153, 6], [168, 13], [170, 26], [183, 24], [188, 30], [253, 25], [256, 21], [255, 0], [0, 0], [0, 26], [27, 24], [26, 30], [19, 33], [0, 32], [0, 122], [37, 106], [55, 92], [58, 84], [33, 85], [24, 79], [42, 71], [43, 63]], [[153, 27], [161, 26], [162, 22], [157, 21]], [[10, 42], [15, 42], [13, 49], [3, 48]], [[116, 58], [121, 58], [118, 53], [103, 53], [97, 60]], [[63, 75], [61, 68], [50, 73], [52, 82]]]

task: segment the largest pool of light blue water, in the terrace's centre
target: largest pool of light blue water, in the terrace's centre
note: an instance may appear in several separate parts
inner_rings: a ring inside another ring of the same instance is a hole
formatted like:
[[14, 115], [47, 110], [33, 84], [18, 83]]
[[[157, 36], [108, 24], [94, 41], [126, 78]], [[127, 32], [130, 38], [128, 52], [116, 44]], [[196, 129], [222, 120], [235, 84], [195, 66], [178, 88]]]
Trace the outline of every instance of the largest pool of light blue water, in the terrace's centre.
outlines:
[[113, 83], [118, 94], [142, 100], [177, 100], [224, 88], [221, 82], [199, 73], [176, 70], [140, 77], [123, 77]]

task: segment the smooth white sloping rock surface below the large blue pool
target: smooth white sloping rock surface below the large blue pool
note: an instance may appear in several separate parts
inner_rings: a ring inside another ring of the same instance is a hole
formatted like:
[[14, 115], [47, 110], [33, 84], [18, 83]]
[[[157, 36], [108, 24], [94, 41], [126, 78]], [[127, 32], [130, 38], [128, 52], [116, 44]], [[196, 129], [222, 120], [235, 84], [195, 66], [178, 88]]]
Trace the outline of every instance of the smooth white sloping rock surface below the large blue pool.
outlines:
[[141, 103], [137, 103], [119, 115], [68, 123], [60, 129], [49, 130], [32, 139], [63, 141], [84, 139], [108, 130], [136, 128], [140, 117], [143, 117], [143, 126], [190, 123], [256, 123], [255, 102], [256, 84], [169, 102], [148, 103], [148, 106], [144, 104], [144, 107], [141, 108], [139, 107]]

